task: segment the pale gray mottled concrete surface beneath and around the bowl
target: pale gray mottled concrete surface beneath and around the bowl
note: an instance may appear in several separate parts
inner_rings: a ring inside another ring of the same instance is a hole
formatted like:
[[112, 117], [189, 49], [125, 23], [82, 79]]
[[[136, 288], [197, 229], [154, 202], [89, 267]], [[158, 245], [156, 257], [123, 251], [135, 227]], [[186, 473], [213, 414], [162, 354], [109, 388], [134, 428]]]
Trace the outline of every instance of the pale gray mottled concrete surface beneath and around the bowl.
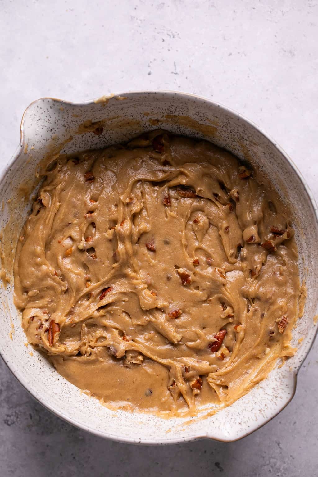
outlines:
[[[261, 125], [318, 197], [318, 1], [2, 0], [0, 40], [0, 167], [34, 99], [174, 89]], [[0, 476], [317, 476], [317, 359], [318, 342], [293, 401], [253, 435], [167, 447], [118, 444], [73, 428], [0, 361]]]

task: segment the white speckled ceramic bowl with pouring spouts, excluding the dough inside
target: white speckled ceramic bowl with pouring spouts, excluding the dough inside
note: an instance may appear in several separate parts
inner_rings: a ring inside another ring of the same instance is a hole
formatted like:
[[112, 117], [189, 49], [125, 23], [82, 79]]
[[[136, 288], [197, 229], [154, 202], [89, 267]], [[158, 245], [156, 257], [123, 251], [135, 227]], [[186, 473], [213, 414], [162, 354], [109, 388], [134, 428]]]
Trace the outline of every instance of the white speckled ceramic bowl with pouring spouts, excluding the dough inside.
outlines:
[[[79, 125], [86, 120], [103, 120], [103, 134], [76, 134]], [[290, 401], [295, 393], [297, 371], [317, 331], [313, 321], [318, 313], [317, 206], [296, 166], [256, 125], [224, 106], [183, 93], [123, 93], [109, 101], [82, 104], [39, 99], [25, 111], [21, 143], [1, 172], [0, 203], [4, 201], [6, 205], [0, 217], [0, 228], [10, 220], [3, 241], [11, 241], [10, 247], [15, 250], [17, 230], [24, 223], [31, 202], [20, 202], [13, 214], [10, 208], [18, 198], [18, 187], [25, 182], [33, 183], [36, 166], [44, 155], [61, 148], [63, 141], [63, 152], [123, 142], [144, 130], [158, 127], [153, 120], [160, 120], [160, 127], [164, 129], [205, 138], [249, 160], [273, 179], [275, 187], [291, 203], [295, 211], [299, 269], [308, 290], [305, 314], [294, 330], [296, 355], [281, 368], [276, 367], [266, 380], [230, 407], [214, 416], [186, 423], [188, 419], [113, 412], [68, 383], [40, 353], [34, 352], [31, 356], [30, 346], [27, 348], [23, 344], [26, 337], [12, 303], [12, 286], [0, 289], [3, 304], [0, 353], [12, 373], [41, 404], [71, 424], [98, 436], [143, 444], [168, 444], [201, 437], [233, 441], [265, 424]], [[65, 142], [71, 135], [72, 140]], [[7, 204], [8, 199], [13, 202]], [[12, 340], [9, 336], [11, 322], [15, 329]], [[300, 337], [304, 340], [298, 344]]]

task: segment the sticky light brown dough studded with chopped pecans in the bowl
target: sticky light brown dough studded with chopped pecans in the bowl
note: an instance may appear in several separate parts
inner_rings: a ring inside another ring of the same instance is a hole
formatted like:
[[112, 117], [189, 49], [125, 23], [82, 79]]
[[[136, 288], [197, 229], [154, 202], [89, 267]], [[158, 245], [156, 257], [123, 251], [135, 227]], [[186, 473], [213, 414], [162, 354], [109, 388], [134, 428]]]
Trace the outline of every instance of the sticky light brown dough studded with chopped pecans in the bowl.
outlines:
[[15, 303], [29, 342], [110, 407], [227, 405], [294, 353], [293, 235], [235, 156], [152, 131], [48, 168]]

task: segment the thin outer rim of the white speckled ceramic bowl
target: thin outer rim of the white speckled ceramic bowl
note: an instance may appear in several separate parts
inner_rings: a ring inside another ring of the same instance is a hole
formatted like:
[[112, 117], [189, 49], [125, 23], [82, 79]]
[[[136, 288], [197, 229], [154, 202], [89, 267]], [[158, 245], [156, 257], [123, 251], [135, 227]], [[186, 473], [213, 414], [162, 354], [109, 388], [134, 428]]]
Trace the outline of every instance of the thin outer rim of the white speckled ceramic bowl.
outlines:
[[[243, 114], [237, 112], [235, 109], [229, 108], [224, 104], [217, 103], [217, 102], [215, 102], [215, 101], [213, 101], [213, 100], [211, 100], [207, 97], [201, 96], [201, 95], [197, 95], [197, 94], [193, 94], [193, 93], [185, 93], [185, 92], [180, 92], [180, 91], [174, 91], [174, 90], [126, 91], [126, 92], [108, 94], [108, 95], [102, 96], [102, 99], [106, 102], [107, 100], [110, 100], [110, 99], [112, 99], [113, 97], [116, 97], [116, 96], [133, 97], [133, 96], [141, 96], [141, 95], [146, 95], [146, 94], [164, 94], [168, 97], [169, 96], [179, 96], [179, 97], [184, 97], [184, 98], [191, 97], [194, 100], [198, 101], [199, 103], [202, 103], [202, 102], [203, 103], [208, 103], [208, 104], [213, 105], [216, 108], [220, 108], [220, 109], [226, 111], [227, 113], [232, 114], [238, 120], [241, 120], [242, 122], [252, 126], [254, 129], [256, 129], [256, 131], [258, 131], [265, 139], [267, 139], [267, 141], [269, 141], [271, 143], [271, 145], [273, 145], [278, 150], [278, 152], [289, 163], [289, 165], [293, 169], [294, 173], [300, 179], [300, 181], [301, 181], [301, 183], [304, 187], [304, 190], [307, 194], [307, 197], [309, 199], [309, 202], [310, 202], [311, 206], [313, 207], [313, 212], [315, 214], [316, 223], [318, 225], [318, 207], [317, 207], [315, 197], [312, 194], [310, 188], [308, 187], [308, 184], [307, 184], [305, 178], [303, 177], [302, 173], [300, 172], [300, 170], [298, 169], [296, 164], [293, 162], [293, 160], [290, 158], [290, 156], [286, 153], [286, 151], [280, 145], [278, 145], [277, 142], [270, 135], [268, 135], [260, 126], [258, 126], [256, 123], [254, 123], [254, 121], [251, 121], [250, 119], [246, 118]], [[25, 121], [26, 113], [27, 113], [28, 109], [31, 107], [31, 105], [33, 105], [35, 103], [38, 103], [40, 101], [44, 101], [44, 100], [52, 100], [52, 101], [56, 101], [56, 102], [59, 102], [59, 103], [62, 103], [62, 104], [67, 104], [68, 106], [71, 106], [71, 107], [72, 106], [78, 107], [78, 106], [86, 106], [86, 105], [89, 105], [89, 104], [96, 104], [97, 100], [100, 100], [100, 99], [101, 98], [95, 98], [95, 99], [86, 100], [86, 101], [83, 101], [83, 102], [72, 102], [72, 101], [65, 101], [65, 100], [50, 97], [50, 96], [45, 96], [45, 97], [41, 97], [41, 98], [39, 98], [35, 101], [32, 101], [26, 107], [26, 109], [25, 109], [25, 111], [22, 115], [21, 125], [20, 125], [20, 143], [19, 143], [15, 153], [11, 157], [11, 159], [8, 160], [6, 163], [4, 163], [4, 165], [1, 167], [1, 170], [0, 170], [0, 186], [2, 185], [2, 183], [5, 179], [5, 176], [8, 172], [8, 170], [10, 169], [10, 167], [15, 163], [15, 161], [18, 159], [18, 157], [23, 153], [24, 142], [25, 142], [24, 121]], [[290, 401], [293, 399], [293, 397], [295, 395], [295, 392], [296, 392], [296, 388], [297, 388], [297, 373], [299, 372], [302, 364], [304, 363], [305, 359], [308, 356], [309, 351], [311, 350], [311, 348], [313, 346], [313, 343], [315, 342], [316, 336], [318, 334], [318, 322], [315, 324], [315, 328], [316, 329], [315, 329], [315, 332], [314, 332], [314, 335], [313, 335], [312, 339], [306, 344], [306, 346], [302, 350], [302, 358], [299, 360], [299, 362], [297, 363], [297, 366], [295, 367], [295, 369], [292, 372], [293, 377], [294, 377], [294, 379], [293, 379], [294, 384], [293, 384], [293, 389], [290, 393], [290, 397], [287, 400], [287, 402], [285, 402], [282, 405], [282, 407], [274, 415], [271, 415], [262, 424], [260, 424], [260, 425], [256, 424], [251, 430], [248, 430], [245, 434], [243, 434], [242, 436], [239, 436], [235, 439], [220, 439], [220, 438], [211, 437], [211, 436], [208, 436], [208, 435], [201, 435], [201, 436], [200, 435], [194, 435], [194, 436], [185, 436], [184, 438], [179, 437], [179, 438], [173, 438], [173, 439], [166, 439], [164, 441], [163, 440], [156, 441], [156, 440], [147, 440], [147, 439], [141, 439], [141, 438], [127, 438], [127, 437], [123, 438], [123, 437], [118, 437], [118, 436], [114, 436], [114, 435], [110, 435], [110, 434], [106, 435], [106, 434], [104, 434], [103, 432], [100, 432], [97, 429], [93, 429], [93, 428], [91, 428], [87, 425], [83, 425], [82, 423], [78, 422], [77, 420], [75, 420], [72, 417], [64, 415], [61, 410], [58, 410], [55, 407], [53, 407], [51, 404], [46, 403], [42, 399], [41, 393], [39, 393], [34, 388], [32, 390], [30, 389], [30, 385], [27, 382], [27, 380], [24, 379], [23, 373], [21, 373], [19, 371], [19, 369], [16, 369], [16, 367], [12, 363], [9, 363], [9, 361], [7, 361], [5, 359], [5, 356], [4, 356], [5, 353], [1, 352], [1, 349], [0, 349], [0, 356], [2, 357], [4, 363], [6, 363], [6, 365], [8, 366], [8, 368], [9, 368], [10, 372], [13, 374], [13, 376], [19, 381], [19, 383], [24, 387], [24, 389], [29, 394], [31, 394], [31, 396], [36, 401], [38, 401], [43, 407], [45, 407], [47, 410], [49, 410], [54, 415], [60, 417], [65, 422], [67, 422], [67, 423], [69, 423], [69, 424], [71, 424], [71, 425], [73, 425], [73, 426], [75, 426], [75, 427], [77, 427], [81, 430], [90, 432], [91, 434], [93, 434], [95, 436], [103, 437], [104, 439], [113, 440], [113, 441], [117, 441], [117, 442], [123, 442], [125, 444], [141, 444], [141, 445], [178, 444], [178, 443], [182, 443], [182, 442], [193, 442], [193, 441], [196, 441], [196, 440], [199, 440], [199, 439], [210, 439], [210, 440], [215, 440], [215, 441], [219, 441], [219, 442], [235, 442], [235, 441], [243, 439], [244, 437], [254, 433], [257, 429], [260, 429], [261, 427], [266, 425], [269, 421], [271, 421], [274, 417], [276, 417], [287, 406], [287, 404], [289, 404]]]

